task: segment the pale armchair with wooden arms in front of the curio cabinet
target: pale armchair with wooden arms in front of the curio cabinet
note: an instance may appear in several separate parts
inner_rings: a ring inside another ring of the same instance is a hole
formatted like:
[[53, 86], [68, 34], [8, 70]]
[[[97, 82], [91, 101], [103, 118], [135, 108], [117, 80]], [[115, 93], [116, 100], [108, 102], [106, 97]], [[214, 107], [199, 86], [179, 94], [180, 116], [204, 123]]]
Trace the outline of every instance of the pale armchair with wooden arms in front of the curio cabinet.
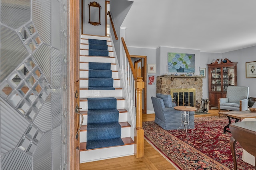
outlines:
[[244, 111], [248, 109], [249, 87], [228, 86], [226, 98], [218, 99], [218, 109]]

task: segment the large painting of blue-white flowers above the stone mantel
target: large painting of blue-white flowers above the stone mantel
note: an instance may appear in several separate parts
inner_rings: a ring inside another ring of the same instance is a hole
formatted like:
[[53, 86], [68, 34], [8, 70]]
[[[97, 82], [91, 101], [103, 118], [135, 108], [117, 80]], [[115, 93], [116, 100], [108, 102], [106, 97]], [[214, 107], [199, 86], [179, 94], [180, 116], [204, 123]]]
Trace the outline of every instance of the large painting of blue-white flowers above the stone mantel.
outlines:
[[195, 72], [195, 55], [168, 53], [168, 72]]

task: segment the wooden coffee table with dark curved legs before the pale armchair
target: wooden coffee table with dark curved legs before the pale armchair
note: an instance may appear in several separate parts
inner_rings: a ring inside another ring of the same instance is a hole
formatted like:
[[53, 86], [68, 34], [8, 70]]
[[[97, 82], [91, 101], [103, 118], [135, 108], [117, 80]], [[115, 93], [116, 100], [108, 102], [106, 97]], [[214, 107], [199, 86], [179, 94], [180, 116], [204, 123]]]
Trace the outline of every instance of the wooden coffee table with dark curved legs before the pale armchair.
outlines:
[[226, 132], [229, 132], [229, 130], [227, 130], [227, 128], [229, 127], [230, 123], [231, 123], [231, 120], [230, 118], [232, 119], [236, 119], [235, 122], [238, 122], [239, 120], [242, 120], [246, 117], [251, 117], [251, 118], [256, 118], [256, 112], [252, 112], [250, 110], [246, 110], [246, 111], [225, 111], [225, 112], [219, 112], [220, 115], [225, 115], [228, 117], [228, 125], [226, 125], [224, 127], [224, 130], [223, 132], [226, 133]]

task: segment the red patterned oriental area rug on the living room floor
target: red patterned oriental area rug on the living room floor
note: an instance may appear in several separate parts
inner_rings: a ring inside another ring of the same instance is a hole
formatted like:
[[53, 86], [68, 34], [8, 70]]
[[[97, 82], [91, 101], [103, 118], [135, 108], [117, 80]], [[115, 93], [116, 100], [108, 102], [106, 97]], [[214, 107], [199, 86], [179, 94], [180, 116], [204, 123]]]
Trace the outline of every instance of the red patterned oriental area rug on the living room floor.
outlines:
[[[225, 116], [196, 117], [195, 129], [165, 131], [154, 121], [143, 122], [145, 138], [180, 170], [233, 170], [231, 134], [223, 133]], [[254, 170], [242, 161], [242, 148], [236, 143], [237, 169]]]

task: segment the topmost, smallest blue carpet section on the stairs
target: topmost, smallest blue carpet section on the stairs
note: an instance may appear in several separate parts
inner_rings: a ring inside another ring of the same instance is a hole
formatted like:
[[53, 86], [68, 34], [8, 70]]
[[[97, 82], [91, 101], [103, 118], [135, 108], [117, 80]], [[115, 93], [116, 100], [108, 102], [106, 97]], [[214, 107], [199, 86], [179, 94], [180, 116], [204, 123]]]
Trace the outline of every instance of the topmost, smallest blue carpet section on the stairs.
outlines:
[[108, 57], [108, 45], [106, 40], [88, 39], [89, 55]]

